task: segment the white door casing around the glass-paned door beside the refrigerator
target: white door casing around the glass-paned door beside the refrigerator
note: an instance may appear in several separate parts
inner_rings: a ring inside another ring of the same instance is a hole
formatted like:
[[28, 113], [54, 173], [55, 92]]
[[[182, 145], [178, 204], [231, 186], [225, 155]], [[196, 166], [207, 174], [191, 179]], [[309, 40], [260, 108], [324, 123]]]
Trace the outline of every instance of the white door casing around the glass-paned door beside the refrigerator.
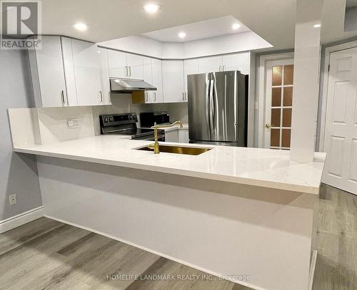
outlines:
[[262, 54], [258, 56], [257, 73], [256, 73], [256, 104], [255, 109], [258, 110], [256, 132], [258, 133], [258, 147], [264, 147], [264, 132], [265, 132], [265, 112], [266, 112], [266, 62], [279, 61], [289, 58], [294, 58], [293, 51], [284, 53]]

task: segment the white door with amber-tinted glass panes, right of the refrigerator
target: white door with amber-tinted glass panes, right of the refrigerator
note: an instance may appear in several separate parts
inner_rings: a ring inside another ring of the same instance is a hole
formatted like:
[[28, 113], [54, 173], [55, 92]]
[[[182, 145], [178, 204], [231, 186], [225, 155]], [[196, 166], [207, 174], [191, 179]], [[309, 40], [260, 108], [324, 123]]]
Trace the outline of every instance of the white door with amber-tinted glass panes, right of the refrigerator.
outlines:
[[293, 59], [266, 63], [264, 147], [290, 149], [293, 110]]

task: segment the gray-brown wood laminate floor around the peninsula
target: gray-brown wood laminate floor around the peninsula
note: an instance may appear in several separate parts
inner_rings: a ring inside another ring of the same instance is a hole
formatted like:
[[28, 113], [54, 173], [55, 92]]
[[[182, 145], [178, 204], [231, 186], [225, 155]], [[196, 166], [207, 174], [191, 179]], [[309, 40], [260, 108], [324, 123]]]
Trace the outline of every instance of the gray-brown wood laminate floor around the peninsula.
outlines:
[[[323, 185], [320, 200], [313, 290], [356, 290], [357, 196]], [[249, 290], [205, 275], [47, 218], [0, 234], [0, 289]]]

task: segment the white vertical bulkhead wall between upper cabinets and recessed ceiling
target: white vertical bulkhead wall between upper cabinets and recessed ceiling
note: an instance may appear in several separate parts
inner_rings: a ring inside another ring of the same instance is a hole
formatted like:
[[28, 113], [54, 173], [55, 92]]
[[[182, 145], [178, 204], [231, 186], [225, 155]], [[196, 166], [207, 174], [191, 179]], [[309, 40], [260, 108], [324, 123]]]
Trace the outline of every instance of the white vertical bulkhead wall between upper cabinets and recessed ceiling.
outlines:
[[272, 47], [251, 31], [182, 43], [165, 43], [144, 36], [129, 36], [104, 41], [98, 45], [162, 59], [196, 58]]

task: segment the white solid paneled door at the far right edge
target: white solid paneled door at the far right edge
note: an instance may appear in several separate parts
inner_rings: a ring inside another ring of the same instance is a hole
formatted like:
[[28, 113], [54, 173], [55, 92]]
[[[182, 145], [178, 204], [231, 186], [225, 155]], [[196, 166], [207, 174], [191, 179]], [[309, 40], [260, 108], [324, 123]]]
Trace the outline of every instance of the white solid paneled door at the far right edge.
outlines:
[[357, 48], [330, 56], [323, 182], [357, 195]]

